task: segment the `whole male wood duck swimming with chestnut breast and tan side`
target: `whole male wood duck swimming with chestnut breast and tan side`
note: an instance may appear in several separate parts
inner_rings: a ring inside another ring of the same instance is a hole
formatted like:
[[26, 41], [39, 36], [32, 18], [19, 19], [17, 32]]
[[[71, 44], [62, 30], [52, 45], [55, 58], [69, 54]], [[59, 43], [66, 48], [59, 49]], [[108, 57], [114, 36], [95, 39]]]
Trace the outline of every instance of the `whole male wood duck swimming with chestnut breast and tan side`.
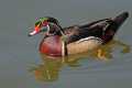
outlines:
[[62, 28], [55, 18], [40, 18], [29, 36], [44, 33], [40, 53], [61, 57], [79, 54], [107, 44], [113, 38], [119, 26], [129, 16], [122, 12], [113, 19], [102, 19], [88, 24]]

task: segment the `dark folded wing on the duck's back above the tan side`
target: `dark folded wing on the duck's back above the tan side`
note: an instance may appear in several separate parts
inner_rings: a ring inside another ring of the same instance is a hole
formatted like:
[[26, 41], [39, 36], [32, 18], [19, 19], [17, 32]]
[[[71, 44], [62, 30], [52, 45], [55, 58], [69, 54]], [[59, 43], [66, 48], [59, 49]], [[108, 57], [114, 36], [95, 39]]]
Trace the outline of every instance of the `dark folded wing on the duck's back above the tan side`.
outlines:
[[88, 36], [101, 37], [103, 34], [103, 28], [106, 26], [106, 20], [99, 20], [85, 25], [74, 25], [65, 28], [64, 32], [67, 35], [66, 43], [79, 41]]

